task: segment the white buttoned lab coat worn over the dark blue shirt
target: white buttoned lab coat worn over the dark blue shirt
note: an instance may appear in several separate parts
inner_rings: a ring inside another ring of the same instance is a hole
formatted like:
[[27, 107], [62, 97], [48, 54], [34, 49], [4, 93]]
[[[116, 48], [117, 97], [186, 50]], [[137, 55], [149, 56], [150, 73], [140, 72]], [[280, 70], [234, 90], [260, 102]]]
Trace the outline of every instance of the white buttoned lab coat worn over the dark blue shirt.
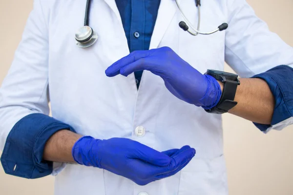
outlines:
[[[194, 0], [180, 0], [196, 26]], [[206, 113], [174, 97], [163, 79], [144, 71], [137, 91], [134, 75], [108, 78], [105, 69], [129, 53], [115, 0], [94, 0], [90, 26], [99, 34], [90, 48], [75, 45], [83, 25], [84, 0], [35, 0], [21, 43], [0, 89], [0, 149], [14, 124], [31, 113], [49, 113], [82, 135], [127, 137], [163, 151], [190, 145], [195, 157], [178, 174], [139, 186], [106, 170], [55, 163], [55, 195], [227, 195], [221, 115]], [[224, 61], [251, 77], [276, 65], [293, 65], [293, 48], [255, 15], [245, 0], [202, 2], [201, 30], [223, 22], [226, 31], [190, 36], [174, 0], [161, 0], [150, 49], [169, 46], [205, 73]], [[275, 125], [282, 129], [292, 118]], [[143, 137], [135, 128], [143, 126]], [[255, 130], [257, 131], [257, 129]], [[145, 192], [143, 194], [142, 192]]]

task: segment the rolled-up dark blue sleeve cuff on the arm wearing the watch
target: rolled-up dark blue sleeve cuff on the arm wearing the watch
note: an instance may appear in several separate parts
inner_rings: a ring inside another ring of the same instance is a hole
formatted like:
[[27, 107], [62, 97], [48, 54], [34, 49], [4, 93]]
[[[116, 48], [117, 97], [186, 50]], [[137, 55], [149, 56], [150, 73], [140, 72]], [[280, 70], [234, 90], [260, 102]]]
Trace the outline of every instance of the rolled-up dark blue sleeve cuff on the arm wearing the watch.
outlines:
[[272, 125], [293, 117], [293, 68], [280, 65], [252, 78], [265, 80], [275, 99], [271, 125], [254, 123], [258, 129], [266, 131]]

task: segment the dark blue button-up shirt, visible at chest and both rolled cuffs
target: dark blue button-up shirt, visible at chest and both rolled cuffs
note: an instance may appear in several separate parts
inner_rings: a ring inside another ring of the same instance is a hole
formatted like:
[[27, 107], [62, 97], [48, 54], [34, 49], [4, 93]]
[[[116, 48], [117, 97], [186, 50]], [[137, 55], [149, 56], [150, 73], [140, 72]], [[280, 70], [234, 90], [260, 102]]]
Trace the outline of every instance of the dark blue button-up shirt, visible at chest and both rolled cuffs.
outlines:
[[[160, 0], [116, 0], [123, 22], [129, 51], [148, 50]], [[293, 69], [277, 66], [254, 76], [267, 81], [275, 98], [272, 125], [293, 116]], [[135, 73], [137, 87], [142, 71]], [[270, 125], [255, 125], [264, 131]], [[1, 156], [6, 174], [38, 178], [52, 173], [52, 162], [42, 159], [46, 141], [57, 131], [74, 129], [43, 114], [31, 114], [18, 121], [10, 131]]]

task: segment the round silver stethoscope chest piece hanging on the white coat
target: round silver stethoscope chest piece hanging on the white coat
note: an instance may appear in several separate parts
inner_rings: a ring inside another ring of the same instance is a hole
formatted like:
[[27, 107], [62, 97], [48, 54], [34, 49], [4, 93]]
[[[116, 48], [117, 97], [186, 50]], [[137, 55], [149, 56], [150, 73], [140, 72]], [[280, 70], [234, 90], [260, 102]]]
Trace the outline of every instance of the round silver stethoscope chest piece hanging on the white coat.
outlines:
[[76, 45], [80, 48], [92, 46], [98, 39], [98, 34], [89, 26], [83, 26], [75, 33]]

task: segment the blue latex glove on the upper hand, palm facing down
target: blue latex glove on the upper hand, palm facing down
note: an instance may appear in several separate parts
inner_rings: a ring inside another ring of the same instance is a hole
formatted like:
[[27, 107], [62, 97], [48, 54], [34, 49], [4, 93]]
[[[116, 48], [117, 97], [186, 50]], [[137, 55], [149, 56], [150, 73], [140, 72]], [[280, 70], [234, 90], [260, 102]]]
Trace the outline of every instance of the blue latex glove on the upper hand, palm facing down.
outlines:
[[105, 73], [108, 77], [128, 76], [140, 70], [160, 76], [174, 96], [205, 109], [217, 105], [222, 95], [215, 78], [202, 75], [169, 47], [134, 51], [109, 66]]

